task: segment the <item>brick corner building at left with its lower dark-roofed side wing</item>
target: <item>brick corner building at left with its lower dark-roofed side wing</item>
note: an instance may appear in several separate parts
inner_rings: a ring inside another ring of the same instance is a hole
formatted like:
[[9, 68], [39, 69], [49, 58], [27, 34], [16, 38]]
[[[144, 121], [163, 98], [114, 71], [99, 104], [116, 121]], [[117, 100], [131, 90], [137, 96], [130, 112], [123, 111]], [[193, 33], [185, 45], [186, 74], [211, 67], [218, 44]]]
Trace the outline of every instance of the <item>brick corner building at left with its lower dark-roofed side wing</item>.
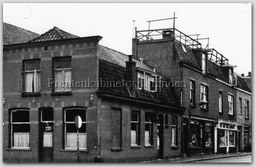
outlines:
[[80, 162], [181, 157], [185, 108], [173, 88], [155, 86], [169, 80], [158, 68], [99, 45], [100, 36], [5, 26], [25, 35], [14, 42], [3, 28], [4, 162], [77, 162], [76, 115]]

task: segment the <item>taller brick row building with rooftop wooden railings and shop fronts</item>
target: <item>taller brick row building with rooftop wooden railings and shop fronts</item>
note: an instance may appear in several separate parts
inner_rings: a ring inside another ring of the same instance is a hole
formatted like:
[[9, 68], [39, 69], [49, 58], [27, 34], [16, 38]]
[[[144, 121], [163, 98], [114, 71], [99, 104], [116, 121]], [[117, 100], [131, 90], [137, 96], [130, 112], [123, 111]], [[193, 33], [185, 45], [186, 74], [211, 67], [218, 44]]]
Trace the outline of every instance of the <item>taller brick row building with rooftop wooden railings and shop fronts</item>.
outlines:
[[175, 88], [178, 101], [186, 107], [182, 155], [243, 151], [241, 143], [250, 140], [251, 117], [239, 115], [239, 98], [247, 100], [245, 110], [251, 113], [251, 91], [237, 79], [228, 59], [208, 45], [203, 48], [198, 37], [193, 39], [174, 28], [135, 31], [133, 55], [167, 78], [187, 84]]

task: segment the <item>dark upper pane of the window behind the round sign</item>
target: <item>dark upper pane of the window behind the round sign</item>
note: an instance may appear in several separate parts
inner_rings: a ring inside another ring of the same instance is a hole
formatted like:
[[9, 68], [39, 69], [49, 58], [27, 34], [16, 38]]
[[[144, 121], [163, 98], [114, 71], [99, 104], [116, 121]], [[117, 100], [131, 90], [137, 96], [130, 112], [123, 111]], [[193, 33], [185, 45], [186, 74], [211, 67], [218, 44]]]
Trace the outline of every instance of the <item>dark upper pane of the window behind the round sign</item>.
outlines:
[[79, 115], [83, 122], [86, 122], [85, 109], [68, 109], [66, 110], [66, 122], [75, 122], [75, 117]]

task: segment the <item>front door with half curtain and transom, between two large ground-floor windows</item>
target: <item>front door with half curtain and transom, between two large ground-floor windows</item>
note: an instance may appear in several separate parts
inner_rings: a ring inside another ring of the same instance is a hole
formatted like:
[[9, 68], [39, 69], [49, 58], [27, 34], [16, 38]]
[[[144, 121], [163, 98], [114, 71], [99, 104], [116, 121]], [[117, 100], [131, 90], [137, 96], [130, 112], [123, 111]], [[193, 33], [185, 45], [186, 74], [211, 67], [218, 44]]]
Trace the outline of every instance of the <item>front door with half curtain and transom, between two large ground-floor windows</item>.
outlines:
[[42, 109], [40, 119], [40, 160], [52, 162], [53, 159], [53, 109]]

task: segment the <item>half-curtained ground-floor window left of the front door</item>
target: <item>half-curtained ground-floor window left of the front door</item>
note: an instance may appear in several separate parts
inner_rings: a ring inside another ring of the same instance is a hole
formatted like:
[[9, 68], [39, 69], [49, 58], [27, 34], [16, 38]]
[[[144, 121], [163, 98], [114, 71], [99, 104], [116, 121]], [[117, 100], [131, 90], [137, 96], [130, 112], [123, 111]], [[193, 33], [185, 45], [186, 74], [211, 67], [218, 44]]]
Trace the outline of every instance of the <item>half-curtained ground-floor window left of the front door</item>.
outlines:
[[29, 110], [12, 110], [11, 120], [11, 147], [29, 148], [30, 113]]

